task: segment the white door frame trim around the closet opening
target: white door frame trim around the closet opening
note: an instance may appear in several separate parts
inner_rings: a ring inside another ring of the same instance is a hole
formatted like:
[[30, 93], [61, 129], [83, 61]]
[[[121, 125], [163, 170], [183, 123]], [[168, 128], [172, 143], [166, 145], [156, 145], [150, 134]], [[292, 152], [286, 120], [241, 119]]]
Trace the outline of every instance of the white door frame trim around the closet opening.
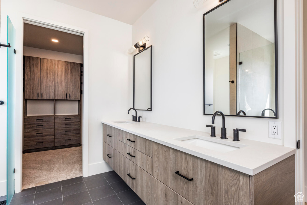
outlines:
[[89, 32], [88, 29], [67, 25], [46, 18], [18, 12], [16, 14], [16, 110], [15, 110], [15, 193], [22, 188], [22, 106], [23, 106], [23, 22], [31, 21], [57, 30], [83, 34], [83, 175], [88, 176], [88, 76]]

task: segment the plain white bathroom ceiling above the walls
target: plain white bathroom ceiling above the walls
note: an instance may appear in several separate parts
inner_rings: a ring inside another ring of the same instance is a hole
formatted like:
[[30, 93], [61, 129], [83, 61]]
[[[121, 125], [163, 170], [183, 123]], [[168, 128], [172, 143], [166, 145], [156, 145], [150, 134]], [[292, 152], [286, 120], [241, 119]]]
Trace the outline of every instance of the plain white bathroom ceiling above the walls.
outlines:
[[132, 25], [156, 0], [55, 0]]

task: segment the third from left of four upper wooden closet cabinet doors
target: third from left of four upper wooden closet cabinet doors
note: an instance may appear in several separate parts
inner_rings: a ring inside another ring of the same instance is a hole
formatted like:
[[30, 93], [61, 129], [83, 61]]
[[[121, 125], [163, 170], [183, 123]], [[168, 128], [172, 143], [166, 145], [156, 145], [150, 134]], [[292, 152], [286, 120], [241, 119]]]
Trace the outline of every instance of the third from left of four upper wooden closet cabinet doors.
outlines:
[[55, 93], [56, 100], [68, 99], [68, 62], [55, 61]]

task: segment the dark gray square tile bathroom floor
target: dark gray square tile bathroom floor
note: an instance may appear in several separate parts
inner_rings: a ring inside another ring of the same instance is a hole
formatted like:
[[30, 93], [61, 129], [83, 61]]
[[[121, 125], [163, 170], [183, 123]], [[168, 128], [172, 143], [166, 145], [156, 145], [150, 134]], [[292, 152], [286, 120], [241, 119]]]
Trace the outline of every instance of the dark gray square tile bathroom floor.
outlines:
[[146, 205], [115, 171], [25, 189], [14, 194], [11, 202], [11, 205], [36, 204]]

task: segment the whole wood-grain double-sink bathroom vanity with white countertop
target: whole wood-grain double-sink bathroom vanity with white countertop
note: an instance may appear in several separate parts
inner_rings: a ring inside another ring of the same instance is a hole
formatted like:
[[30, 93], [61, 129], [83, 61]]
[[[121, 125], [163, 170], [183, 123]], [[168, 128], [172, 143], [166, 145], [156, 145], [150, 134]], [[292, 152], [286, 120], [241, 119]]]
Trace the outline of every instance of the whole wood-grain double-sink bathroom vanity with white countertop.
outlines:
[[294, 148], [148, 122], [102, 123], [103, 159], [147, 205], [294, 204]]

